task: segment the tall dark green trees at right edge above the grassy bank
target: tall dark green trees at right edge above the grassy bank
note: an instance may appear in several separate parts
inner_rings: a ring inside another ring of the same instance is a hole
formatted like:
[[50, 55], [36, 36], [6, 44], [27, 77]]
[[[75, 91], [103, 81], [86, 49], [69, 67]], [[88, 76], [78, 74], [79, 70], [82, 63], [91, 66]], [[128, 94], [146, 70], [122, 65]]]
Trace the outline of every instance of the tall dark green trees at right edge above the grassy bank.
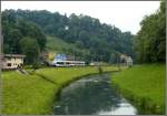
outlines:
[[140, 22], [141, 29], [135, 39], [136, 59], [139, 63], [165, 62], [166, 15], [165, 0], [153, 14]]

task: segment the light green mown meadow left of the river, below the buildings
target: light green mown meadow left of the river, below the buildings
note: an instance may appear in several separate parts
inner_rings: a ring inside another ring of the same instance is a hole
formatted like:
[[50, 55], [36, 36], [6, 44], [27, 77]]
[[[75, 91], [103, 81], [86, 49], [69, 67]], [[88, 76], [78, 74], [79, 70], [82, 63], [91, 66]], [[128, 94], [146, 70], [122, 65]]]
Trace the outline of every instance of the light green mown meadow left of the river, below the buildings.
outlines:
[[[114, 66], [102, 68], [104, 72], [118, 71]], [[59, 89], [72, 80], [94, 73], [98, 73], [97, 67], [48, 67], [40, 68], [32, 75], [16, 71], [2, 72], [2, 114], [52, 114]]]

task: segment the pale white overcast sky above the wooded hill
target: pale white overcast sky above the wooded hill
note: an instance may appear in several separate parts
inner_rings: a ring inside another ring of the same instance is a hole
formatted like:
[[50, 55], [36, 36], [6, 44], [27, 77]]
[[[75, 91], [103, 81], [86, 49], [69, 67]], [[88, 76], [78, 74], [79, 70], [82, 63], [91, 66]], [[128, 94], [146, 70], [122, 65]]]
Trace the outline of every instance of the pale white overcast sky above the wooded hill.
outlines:
[[139, 31], [139, 22], [154, 13], [160, 1], [1, 1], [1, 10], [48, 10], [61, 14], [87, 14], [121, 31]]

